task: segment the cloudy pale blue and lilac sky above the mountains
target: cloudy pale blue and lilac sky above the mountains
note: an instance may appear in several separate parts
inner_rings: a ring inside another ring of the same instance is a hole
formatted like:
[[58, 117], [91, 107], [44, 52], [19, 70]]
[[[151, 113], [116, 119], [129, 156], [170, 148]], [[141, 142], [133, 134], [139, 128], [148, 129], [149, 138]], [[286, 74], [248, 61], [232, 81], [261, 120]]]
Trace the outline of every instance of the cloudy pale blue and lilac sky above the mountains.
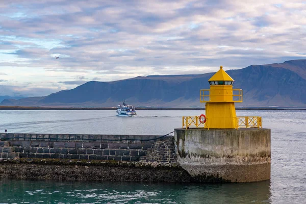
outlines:
[[291, 59], [306, 59], [303, 0], [0, 0], [0, 95]]

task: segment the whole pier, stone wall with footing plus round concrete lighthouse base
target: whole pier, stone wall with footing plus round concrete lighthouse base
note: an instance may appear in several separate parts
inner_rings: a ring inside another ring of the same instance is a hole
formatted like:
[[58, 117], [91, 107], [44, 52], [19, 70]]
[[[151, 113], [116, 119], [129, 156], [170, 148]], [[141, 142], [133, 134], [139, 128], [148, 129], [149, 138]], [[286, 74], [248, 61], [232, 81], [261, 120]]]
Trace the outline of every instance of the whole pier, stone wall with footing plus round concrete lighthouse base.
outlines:
[[0, 140], [0, 178], [200, 183], [270, 179], [270, 129], [175, 129], [174, 137], [162, 138], [0, 134]]

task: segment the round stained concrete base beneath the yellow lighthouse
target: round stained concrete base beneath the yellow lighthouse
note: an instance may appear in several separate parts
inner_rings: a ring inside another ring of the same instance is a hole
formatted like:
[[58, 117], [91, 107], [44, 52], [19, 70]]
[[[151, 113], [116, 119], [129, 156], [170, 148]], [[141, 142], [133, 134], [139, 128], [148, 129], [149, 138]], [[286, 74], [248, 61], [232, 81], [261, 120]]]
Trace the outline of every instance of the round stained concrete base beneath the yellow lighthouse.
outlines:
[[270, 129], [175, 129], [179, 164], [196, 182], [270, 179]]

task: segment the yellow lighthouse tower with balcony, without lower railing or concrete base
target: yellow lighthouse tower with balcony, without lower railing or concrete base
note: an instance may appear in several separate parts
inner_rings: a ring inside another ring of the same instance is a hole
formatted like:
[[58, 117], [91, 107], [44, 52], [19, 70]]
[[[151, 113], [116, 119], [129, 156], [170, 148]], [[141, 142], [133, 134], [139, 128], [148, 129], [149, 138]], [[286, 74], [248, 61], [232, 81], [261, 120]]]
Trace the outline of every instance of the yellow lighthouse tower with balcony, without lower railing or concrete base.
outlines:
[[206, 103], [208, 129], [236, 129], [235, 102], [242, 102], [242, 90], [233, 89], [234, 80], [220, 66], [209, 79], [210, 89], [200, 90], [200, 102]]

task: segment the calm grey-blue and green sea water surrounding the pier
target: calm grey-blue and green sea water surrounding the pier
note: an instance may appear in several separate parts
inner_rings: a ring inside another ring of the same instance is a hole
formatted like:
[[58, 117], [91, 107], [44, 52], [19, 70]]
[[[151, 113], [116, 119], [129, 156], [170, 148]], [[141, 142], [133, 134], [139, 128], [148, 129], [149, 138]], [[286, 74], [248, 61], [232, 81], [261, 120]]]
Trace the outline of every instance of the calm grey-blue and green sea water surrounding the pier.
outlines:
[[[9, 133], [165, 135], [203, 111], [0, 111]], [[237, 111], [271, 129], [271, 180], [246, 184], [54, 182], [0, 179], [0, 203], [306, 203], [306, 111]]]

